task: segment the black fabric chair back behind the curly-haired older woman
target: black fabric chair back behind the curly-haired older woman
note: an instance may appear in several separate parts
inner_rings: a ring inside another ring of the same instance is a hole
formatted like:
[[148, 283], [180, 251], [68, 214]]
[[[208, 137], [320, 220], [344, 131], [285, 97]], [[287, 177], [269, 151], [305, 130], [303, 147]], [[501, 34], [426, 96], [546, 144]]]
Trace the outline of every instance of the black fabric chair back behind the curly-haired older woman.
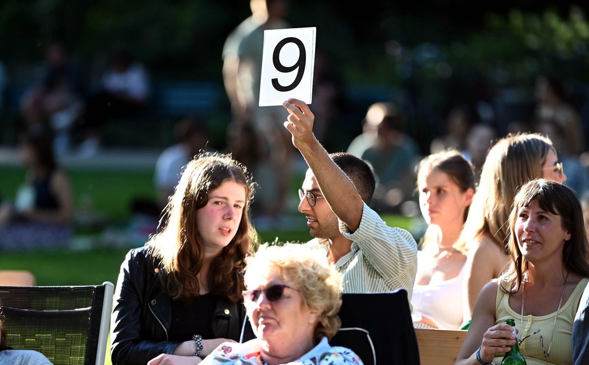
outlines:
[[[419, 365], [407, 292], [343, 294], [342, 326], [329, 344], [352, 349], [365, 365]], [[249, 318], [246, 318], [249, 321]], [[241, 342], [254, 339], [244, 323]]]

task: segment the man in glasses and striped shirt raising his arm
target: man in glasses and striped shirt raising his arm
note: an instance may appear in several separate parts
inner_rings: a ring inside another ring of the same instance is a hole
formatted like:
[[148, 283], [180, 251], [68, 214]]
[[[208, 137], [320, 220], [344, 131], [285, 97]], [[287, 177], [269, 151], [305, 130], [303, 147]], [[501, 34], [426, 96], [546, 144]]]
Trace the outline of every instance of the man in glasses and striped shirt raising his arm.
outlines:
[[[344, 293], [380, 293], [405, 289], [409, 303], [417, 269], [417, 245], [408, 231], [388, 227], [370, 209], [375, 178], [366, 162], [350, 154], [327, 154], [313, 135], [315, 117], [298, 99], [283, 103], [284, 127], [309, 165], [299, 192], [310, 245], [326, 248], [343, 273]], [[410, 304], [411, 306], [411, 304]]]

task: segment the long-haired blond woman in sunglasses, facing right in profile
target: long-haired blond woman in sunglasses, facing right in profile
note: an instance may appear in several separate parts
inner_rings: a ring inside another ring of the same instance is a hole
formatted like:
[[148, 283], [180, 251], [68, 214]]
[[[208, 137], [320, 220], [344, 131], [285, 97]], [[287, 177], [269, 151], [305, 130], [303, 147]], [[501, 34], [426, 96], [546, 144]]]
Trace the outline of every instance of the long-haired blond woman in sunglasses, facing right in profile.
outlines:
[[468, 323], [482, 287], [508, 263], [507, 219], [518, 188], [535, 178], [567, 180], [552, 142], [540, 134], [507, 135], [489, 150], [477, 193], [456, 248], [466, 254], [464, 321]]

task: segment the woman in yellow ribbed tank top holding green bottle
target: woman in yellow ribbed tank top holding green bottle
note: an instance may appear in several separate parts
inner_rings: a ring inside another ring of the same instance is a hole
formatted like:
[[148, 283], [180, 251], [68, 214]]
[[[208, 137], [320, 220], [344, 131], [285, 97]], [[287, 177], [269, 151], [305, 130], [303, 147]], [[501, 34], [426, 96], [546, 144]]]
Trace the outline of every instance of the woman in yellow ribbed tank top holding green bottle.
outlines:
[[528, 365], [573, 364], [573, 321], [589, 282], [581, 203], [558, 182], [529, 181], [508, 225], [509, 268], [479, 294], [456, 364], [501, 364], [515, 343], [508, 318]]

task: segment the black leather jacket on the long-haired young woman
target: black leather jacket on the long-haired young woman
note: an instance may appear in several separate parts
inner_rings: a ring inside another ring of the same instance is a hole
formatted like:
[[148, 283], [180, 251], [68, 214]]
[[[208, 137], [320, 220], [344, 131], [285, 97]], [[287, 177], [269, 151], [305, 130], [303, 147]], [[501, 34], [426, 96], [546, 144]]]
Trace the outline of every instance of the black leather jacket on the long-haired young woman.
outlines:
[[[168, 341], [171, 297], [162, 291], [160, 264], [148, 247], [129, 251], [121, 264], [112, 303], [113, 365], [145, 365], [160, 354], [173, 353], [180, 344]], [[239, 341], [244, 317], [242, 303], [221, 298], [211, 319], [215, 337]]]

